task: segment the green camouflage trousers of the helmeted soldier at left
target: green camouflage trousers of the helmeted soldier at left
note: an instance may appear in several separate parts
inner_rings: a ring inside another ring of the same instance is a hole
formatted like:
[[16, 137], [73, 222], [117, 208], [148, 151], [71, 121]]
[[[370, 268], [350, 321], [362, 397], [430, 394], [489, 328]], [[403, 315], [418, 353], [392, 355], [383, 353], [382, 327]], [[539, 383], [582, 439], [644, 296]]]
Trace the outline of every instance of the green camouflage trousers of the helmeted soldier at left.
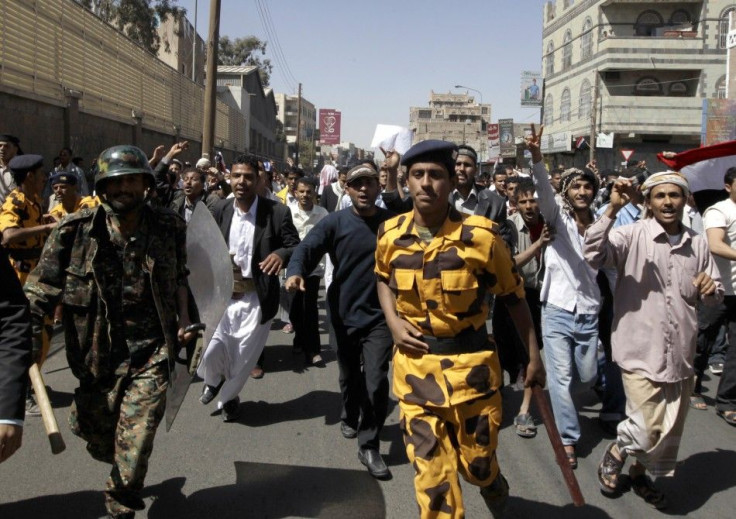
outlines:
[[111, 382], [75, 390], [69, 425], [93, 458], [112, 464], [105, 506], [115, 517], [145, 507], [140, 492], [166, 408], [168, 365], [149, 361]]

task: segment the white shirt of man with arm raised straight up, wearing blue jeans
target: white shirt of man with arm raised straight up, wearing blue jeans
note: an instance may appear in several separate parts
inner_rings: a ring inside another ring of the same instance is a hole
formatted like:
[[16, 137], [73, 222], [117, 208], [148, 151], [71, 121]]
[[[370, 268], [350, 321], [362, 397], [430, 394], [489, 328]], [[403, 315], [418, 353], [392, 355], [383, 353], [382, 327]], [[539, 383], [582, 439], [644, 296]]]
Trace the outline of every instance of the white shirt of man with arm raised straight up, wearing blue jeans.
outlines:
[[544, 252], [546, 272], [539, 294], [541, 301], [577, 314], [598, 314], [601, 293], [596, 283], [597, 270], [583, 257], [584, 238], [575, 219], [555, 200], [544, 163], [534, 164], [532, 178], [537, 187], [539, 210], [556, 234]]

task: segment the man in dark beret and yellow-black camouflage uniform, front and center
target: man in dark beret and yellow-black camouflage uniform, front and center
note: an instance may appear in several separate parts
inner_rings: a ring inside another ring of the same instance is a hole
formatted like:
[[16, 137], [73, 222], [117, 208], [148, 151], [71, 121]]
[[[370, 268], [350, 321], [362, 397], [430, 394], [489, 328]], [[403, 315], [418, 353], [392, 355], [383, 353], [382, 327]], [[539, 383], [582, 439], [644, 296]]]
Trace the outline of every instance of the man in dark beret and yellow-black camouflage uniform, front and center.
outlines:
[[379, 228], [378, 297], [396, 346], [393, 387], [421, 517], [463, 516], [458, 472], [500, 517], [508, 483], [495, 454], [502, 380], [485, 330], [488, 292], [528, 348], [525, 385], [543, 386], [545, 372], [509, 249], [493, 222], [448, 202], [456, 151], [428, 140], [404, 156], [414, 209]]

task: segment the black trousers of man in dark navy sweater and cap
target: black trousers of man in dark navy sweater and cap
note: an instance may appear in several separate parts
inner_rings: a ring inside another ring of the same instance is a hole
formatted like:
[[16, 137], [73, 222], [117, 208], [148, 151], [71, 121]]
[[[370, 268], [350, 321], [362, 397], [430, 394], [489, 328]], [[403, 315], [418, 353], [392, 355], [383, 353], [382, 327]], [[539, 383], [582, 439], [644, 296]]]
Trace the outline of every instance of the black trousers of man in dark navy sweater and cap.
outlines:
[[[341, 420], [358, 430], [361, 448], [378, 449], [388, 409], [388, 363], [393, 339], [385, 321], [366, 329], [333, 323], [342, 392]], [[361, 369], [361, 358], [363, 366]]]

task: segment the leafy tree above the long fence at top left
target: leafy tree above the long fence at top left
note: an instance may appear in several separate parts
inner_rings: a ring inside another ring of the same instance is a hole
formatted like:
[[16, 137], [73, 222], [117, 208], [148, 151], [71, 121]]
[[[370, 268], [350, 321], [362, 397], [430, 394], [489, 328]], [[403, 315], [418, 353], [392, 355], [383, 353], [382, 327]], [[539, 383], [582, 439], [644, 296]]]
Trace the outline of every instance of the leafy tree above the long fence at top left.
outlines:
[[160, 20], [168, 16], [179, 21], [186, 9], [178, 0], [76, 0], [102, 20], [113, 25], [131, 40], [156, 54], [163, 43], [156, 31]]

